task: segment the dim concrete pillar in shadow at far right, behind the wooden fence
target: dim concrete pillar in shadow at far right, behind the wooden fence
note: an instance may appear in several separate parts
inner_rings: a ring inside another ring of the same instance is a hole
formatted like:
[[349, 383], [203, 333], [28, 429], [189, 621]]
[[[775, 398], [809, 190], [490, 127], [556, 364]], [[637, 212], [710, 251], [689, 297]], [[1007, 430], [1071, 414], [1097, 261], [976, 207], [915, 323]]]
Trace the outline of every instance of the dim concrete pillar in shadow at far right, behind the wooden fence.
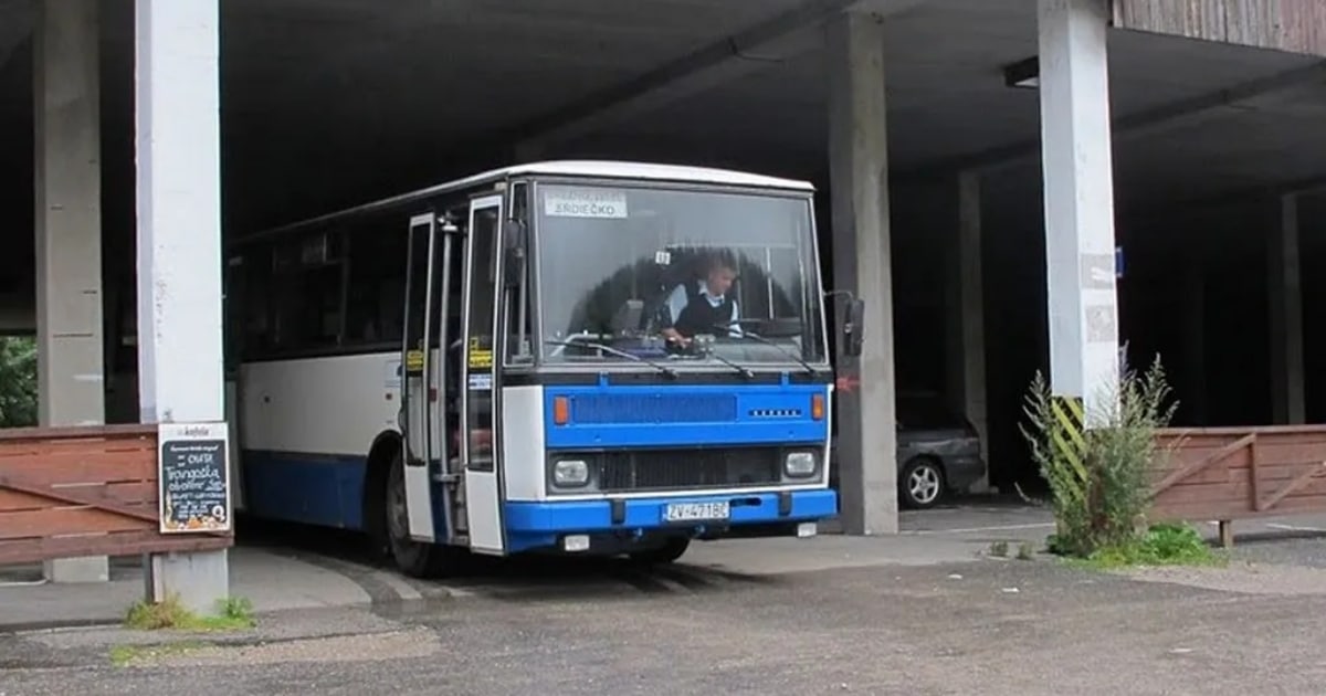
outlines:
[[1276, 424], [1299, 426], [1306, 420], [1306, 403], [1298, 196], [1281, 196], [1276, 207], [1266, 244], [1272, 416]]

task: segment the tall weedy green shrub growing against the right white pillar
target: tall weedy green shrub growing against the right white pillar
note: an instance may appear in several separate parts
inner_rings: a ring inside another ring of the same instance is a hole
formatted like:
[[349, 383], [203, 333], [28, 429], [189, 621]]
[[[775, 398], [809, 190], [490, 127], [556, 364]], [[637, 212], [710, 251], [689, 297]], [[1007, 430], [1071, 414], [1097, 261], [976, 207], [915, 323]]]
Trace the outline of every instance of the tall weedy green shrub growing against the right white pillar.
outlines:
[[1090, 557], [1138, 540], [1150, 497], [1155, 434], [1170, 423], [1170, 388], [1159, 359], [1146, 375], [1126, 370], [1116, 392], [1098, 394], [1085, 428], [1063, 424], [1045, 378], [1037, 373], [1026, 398], [1030, 428], [1022, 427], [1050, 487], [1057, 533], [1050, 550]]

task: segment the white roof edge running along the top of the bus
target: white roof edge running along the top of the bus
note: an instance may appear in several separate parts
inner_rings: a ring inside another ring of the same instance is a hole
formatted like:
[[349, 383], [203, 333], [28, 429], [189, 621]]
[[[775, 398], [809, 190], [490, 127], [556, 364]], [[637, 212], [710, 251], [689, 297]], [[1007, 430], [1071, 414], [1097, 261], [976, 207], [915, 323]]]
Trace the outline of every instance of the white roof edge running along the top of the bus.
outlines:
[[781, 188], [781, 190], [804, 191], [804, 192], [813, 192], [815, 190], [814, 186], [810, 184], [810, 182], [802, 182], [797, 179], [780, 179], [776, 176], [764, 176], [760, 174], [749, 174], [743, 171], [720, 170], [711, 167], [688, 167], [682, 164], [652, 164], [644, 162], [591, 160], [591, 159], [530, 162], [526, 164], [513, 164], [509, 167], [489, 170], [483, 174], [467, 176], [464, 179], [456, 179], [428, 188], [420, 188], [418, 191], [411, 191], [407, 194], [400, 194], [398, 196], [391, 196], [389, 199], [365, 203], [362, 205], [355, 205], [351, 208], [345, 208], [326, 215], [320, 215], [316, 217], [300, 220], [296, 223], [289, 223], [276, 228], [259, 231], [253, 235], [247, 235], [244, 237], [240, 237], [235, 240], [235, 243], [243, 245], [245, 241], [252, 241], [256, 240], [257, 237], [267, 237], [280, 232], [289, 232], [296, 228], [301, 228], [332, 217], [338, 217], [341, 215], [349, 215], [355, 212], [370, 212], [379, 208], [395, 205], [399, 203], [407, 203], [414, 199], [428, 198], [436, 194], [446, 194], [450, 191], [477, 186], [484, 182], [497, 182], [508, 176], [518, 176], [518, 175], [589, 176], [599, 179], [643, 179], [652, 182], [682, 182], [682, 183], [693, 182], [693, 183], [723, 184], [723, 186], [745, 186], [753, 188]]

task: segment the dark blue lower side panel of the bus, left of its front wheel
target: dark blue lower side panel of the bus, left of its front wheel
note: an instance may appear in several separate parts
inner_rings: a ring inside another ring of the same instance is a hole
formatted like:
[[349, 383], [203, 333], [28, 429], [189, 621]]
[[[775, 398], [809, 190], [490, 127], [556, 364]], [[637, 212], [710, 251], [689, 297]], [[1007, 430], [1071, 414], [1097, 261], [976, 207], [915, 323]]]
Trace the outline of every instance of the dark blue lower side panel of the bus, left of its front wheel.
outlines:
[[365, 457], [245, 449], [244, 504], [253, 517], [363, 529]]

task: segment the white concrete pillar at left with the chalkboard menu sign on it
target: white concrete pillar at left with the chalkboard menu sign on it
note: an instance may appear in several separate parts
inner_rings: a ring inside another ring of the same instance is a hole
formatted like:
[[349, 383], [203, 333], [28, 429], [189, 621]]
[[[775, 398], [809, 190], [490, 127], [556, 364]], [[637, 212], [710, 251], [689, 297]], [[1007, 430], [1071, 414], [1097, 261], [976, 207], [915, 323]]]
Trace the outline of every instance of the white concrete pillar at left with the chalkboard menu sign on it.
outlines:
[[[138, 375], [143, 423], [224, 419], [217, 0], [137, 0]], [[152, 599], [216, 610], [227, 551], [152, 557]]]

